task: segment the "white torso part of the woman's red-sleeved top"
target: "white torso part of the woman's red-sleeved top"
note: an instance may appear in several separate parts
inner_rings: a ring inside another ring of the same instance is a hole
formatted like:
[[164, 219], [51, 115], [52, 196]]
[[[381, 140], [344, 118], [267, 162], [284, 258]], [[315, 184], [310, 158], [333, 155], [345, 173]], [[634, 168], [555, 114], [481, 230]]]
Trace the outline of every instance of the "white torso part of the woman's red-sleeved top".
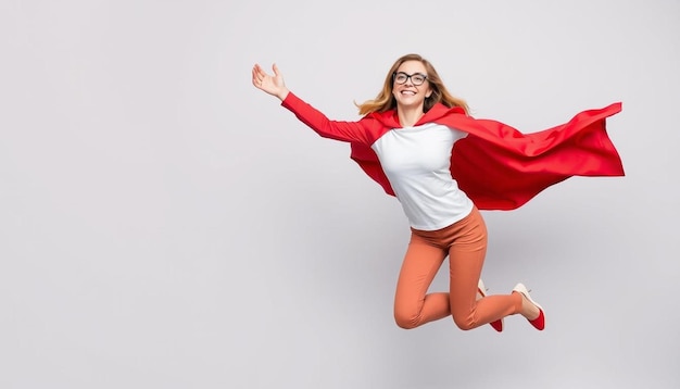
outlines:
[[391, 129], [373, 143], [413, 228], [441, 229], [473, 211], [450, 170], [453, 143], [466, 135], [430, 123]]

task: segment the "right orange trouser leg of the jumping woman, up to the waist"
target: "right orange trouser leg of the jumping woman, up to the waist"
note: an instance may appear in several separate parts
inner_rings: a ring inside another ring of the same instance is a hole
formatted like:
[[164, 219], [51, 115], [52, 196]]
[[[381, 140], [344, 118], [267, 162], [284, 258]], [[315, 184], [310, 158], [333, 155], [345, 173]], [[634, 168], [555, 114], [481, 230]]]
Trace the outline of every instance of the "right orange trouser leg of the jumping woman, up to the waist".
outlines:
[[450, 308], [461, 329], [471, 329], [518, 313], [517, 293], [489, 296], [477, 300], [477, 283], [487, 255], [487, 227], [477, 209], [454, 225], [449, 248]]

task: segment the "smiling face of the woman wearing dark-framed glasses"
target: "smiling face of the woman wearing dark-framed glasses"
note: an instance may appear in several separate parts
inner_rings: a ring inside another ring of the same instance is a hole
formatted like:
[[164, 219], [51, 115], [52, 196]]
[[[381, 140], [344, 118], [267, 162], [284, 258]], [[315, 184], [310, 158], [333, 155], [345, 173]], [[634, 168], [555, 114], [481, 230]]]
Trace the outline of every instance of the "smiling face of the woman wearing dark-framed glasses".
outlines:
[[406, 61], [399, 66], [392, 80], [392, 95], [400, 110], [423, 108], [425, 99], [432, 95], [432, 90], [427, 80], [425, 65], [420, 61]]

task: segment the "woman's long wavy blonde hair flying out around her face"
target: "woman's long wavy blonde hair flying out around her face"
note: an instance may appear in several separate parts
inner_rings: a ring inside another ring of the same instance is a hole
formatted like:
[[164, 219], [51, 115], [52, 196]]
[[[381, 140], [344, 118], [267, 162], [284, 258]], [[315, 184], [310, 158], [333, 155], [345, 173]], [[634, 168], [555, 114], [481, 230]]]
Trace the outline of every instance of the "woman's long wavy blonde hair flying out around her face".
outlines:
[[465, 110], [466, 114], [469, 114], [469, 108], [465, 100], [453, 97], [453, 95], [451, 95], [449, 90], [446, 90], [446, 87], [439, 77], [439, 74], [435, 70], [435, 66], [432, 66], [429, 61], [427, 61], [419, 54], [406, 54], [396, 60], [396, 62], [394, 62], [394, 64], [388, 72], [387, 77], [385, 77], [382, 90], [375, 99], [368, 100], [362, 104], [354, 103], [358, 108], [360, 115], [366, 115], [372, 112], [386, 112], [396, 108], [396, 100], [392, 95], [394, 86], [392, 77], [399, 66], [401, 66], [402, 63], [406, 61], [419, 61], [427, 71], [427, 81], [430, 83], [432, 95], [430, 95], [429, 98], [425, 99], [425, 103], [423, 106], [424, 112], [429, 111], [437, 103], [442, 103], [448, 108], [459, 106]]

